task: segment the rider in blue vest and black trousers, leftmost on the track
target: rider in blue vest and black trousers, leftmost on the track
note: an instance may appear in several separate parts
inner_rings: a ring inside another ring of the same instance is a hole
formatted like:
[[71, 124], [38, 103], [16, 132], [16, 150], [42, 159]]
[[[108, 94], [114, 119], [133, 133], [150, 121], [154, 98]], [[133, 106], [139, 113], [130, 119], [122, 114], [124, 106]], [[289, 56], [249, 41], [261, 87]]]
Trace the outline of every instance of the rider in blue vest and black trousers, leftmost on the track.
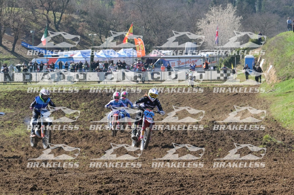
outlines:
[[[34, 101], [30, 105], [30, 109], [33, 110], [33, 117], [31, 120], [32, 128], [31, 128], [31, 136], [30, 136], [32, 138], [36, 136], [34, 129], [37, 125], [38, 117], [41, 115], [40, 109], [46, 108], [48, 104], [50, 106], [56, 107], [55, 104], [49, 98], [49, 96], [50, 96], [49, 91], [43, 88], [41, 89], [39, 96], [36, 96]], [[37, 108], [38, 110], [35, 110], [34, 108]]]

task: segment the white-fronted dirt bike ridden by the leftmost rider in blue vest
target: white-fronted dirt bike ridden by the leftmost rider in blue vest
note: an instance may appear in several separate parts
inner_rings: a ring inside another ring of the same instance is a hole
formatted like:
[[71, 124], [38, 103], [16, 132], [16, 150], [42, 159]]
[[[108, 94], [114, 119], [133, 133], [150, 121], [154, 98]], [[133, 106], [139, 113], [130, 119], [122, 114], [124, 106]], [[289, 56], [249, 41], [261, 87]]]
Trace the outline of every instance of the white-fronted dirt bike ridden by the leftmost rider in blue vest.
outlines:
[[52, 120], [49, 118], [51, 113], [46, 108], [34, 108], [34, 110], [39, 110], [40, 116], [37, 120], [36, 127], [34, 127], [36, 136], [31, 137], [31, 146], [37, 147], [38, 141], [42, 140], [44, 149], [47, 149], [49, 148], [49, 143], [51, 143], [51, 129], [49, 128], [52, 125]]

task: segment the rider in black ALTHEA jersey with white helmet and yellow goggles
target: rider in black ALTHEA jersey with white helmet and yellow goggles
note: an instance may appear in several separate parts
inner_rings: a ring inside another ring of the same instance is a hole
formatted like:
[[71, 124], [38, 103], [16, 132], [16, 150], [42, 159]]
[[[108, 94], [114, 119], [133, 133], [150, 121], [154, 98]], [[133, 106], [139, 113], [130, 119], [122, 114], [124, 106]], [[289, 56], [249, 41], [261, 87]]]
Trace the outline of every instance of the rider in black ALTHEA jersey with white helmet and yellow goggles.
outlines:
[[[152, 88], [148, 91], [148, 94], [145, 94], [143, 97], [141, 97], [139, 100], [135, 101], [133, 106], [134, 108], [139, 108], [139, 106], [144, 108], [151, 108], [152, 110], [157, 107], [158, 111], [160, 111], [161, 115], [164, 115], [165, 112], [163, 111], [161, 104], [159, 100], [157, 99], [158, 91], [155, 88]], [[138, 105], [140, 104], [140, 105]], [[131, 139], [136, 140], [136, 134], [137, 134], [137, 125], [139, 123], [139, 119], [143, 115], [142, 109], [138, 109], [135, 116], [135, 122], [133, 123], [133, 130], [132, 130], [132, 136]]]

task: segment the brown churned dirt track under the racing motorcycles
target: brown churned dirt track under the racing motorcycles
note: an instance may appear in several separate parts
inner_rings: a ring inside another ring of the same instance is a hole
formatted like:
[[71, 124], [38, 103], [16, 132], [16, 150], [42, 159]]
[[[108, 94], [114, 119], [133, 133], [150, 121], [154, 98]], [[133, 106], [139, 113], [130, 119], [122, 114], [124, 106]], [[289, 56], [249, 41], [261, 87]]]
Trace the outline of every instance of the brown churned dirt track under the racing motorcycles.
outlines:
[[[177, 116], [198, 122], [157, 122], [162, 126], [153, 131], [142, 154], [140, 149], [128, 150], [130, 130], [112, 138], [110, 131], [99, 129], [106, 123], [92, 122], [106, 116], [104, 105], [112, 92], [52, 93], [56, 106], [81, 113], [76, 121], [58, 123], [61, 129], [52, 130], [56, 148], [43, 160], [36, 158], [46, 151], [41, 142], [36, 148], [30, 146], [25, 123], [36, 93], [15, 90], [1, 96], [0, 107], [14, 110], [0, 118], [1, 130], [21, 126], [25, 134], [1, 137], [0, 194], [293, 194], [293, 134], [273, 119], [269, 102], [244, 89], [238, 93], [213, 93], [213, 87], [198, 90], [182, 93], [164, 87], [158, 98], [166, 115], [156, 114], [155, 121]], [[128, 97], [135, 101], [146, 91], [142, 88]], [[9, 101], [15, 97], [25, 101]], [[205, 112], [191, 113], [193, 108]], [[65, 151], [61, 145], [76, 150]], [[64, 154], [72, 159], [55, 158]]]

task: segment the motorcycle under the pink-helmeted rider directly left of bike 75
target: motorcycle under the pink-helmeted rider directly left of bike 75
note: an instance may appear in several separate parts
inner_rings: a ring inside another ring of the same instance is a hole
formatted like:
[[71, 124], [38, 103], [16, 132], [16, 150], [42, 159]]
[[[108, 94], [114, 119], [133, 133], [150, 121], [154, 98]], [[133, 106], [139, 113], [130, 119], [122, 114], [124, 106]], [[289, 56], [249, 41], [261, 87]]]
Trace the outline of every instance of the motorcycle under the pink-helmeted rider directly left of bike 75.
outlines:
[[121, 122], [123, 118], [126, 117], [126, 111], [124, 109], [121, 108], [117, 108], [117, 107], [113, 107], [110, 106], [111, 108], [111, 125], [110, 125], [110, 129], [111, 129], [111, 136], [115, 137], [118, 130], [123, 133], [125, 128], [126, 128], [126, 122]]

